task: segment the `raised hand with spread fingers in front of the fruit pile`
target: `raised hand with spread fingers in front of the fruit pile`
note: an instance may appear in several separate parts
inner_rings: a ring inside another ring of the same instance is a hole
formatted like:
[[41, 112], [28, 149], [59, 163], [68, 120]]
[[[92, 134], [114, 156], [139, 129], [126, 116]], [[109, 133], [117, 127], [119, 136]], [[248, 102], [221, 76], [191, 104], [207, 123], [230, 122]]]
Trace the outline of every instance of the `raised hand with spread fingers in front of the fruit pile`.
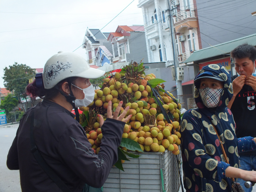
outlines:
[[[120, 114], [120, 116], [118, 116], [119, 115], [119, 112], [120, 112], [120, 109], [121, 109], [121, 107], [122, 107], [122, 104], [123, 104], [123, 101], [120, 101], [119, 102], [119, 104], [118, 104], [118, 106], [117, 106], [117, 108], [116, 108], [116, 111], [115, 111], [115, 113], [114, 113], [114, 115], [112, 115], [112, 102], [111, 101], [109, 101], [108, 102], [108, 108], [107, 108], [107, 118], [109, 118], [109, 119], [116, 119], [116, 120], [119, 120], [119, 121], [122, 121], [122, 122], [127, 122], [130, 118], [131, 118], [131, 116], [132, 115], [129, 115], [128, 117], [126, 117], [125, 119], [123, 119], [123, 117], [125, 117], [125, 115], [126, 115], [126, 113], [127, 113], [127, 111], [129, 110], [129, 106], [128, 107], [126, 107], [125, 108], [125, 110], [123, 111], [123, 113], [122, 114]], [[104, 119], [103, 119], [103, 117], [101, 116], [101, 115], [98, 115], [99, 116], [99, 124], [100, 124], [100, 127], [103, 125], [103, 123], [104, 123]]]

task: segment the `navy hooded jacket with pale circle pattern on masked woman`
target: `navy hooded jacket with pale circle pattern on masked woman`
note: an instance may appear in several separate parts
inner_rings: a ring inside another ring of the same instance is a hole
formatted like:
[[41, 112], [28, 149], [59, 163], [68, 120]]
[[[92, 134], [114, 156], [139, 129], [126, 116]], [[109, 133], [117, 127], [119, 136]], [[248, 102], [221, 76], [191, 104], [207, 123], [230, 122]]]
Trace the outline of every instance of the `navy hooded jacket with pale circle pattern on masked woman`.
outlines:
[[[189, 192], [232, 191], [232, 182], [226, 178], [225, 170], [229, 166], [238, 168], [238, 139], [235, 135], [235, 122], [227, 108], [233, 96], [233, 87], [229, 72], [224, 66], [211, 64], [203, 67], [200, 76], [215, 76], [224, 79], [224, 89], [214, 110], [204, 106], [198, 89], [200, 81], [195, 82], [196, 109], [188, 110], [181, 122], [181, 155], [183, 158], [184, 183]], [[225, 163], [215, 125], [229, 164]]]

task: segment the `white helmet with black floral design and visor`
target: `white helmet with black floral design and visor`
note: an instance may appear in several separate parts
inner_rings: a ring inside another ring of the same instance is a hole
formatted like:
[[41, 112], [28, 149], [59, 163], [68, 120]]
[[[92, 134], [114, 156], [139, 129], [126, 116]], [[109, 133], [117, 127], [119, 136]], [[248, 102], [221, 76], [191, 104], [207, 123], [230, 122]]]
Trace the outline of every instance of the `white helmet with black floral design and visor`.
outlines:
[[44, 66], [44, 88], [51, 89], [58, 82], [69, 77], [96, 79], [104, 74], [105, 71], [91, 68], [82, 56], [60, 51], [48, 59]]

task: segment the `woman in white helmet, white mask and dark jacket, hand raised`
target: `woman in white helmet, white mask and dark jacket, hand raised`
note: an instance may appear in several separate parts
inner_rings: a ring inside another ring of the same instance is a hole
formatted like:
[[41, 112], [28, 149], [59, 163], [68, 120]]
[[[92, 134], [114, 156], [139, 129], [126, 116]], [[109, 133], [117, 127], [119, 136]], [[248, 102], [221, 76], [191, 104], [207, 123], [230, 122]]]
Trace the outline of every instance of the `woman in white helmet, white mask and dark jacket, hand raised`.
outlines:
[[[78, 107], [93, 102], [90, 79], [104, 73], [90, 68], [75, 53], [59, 52], [46, 62], [43, 74], [37, 74], [27, 85], [28, 94], [44, 100], [27, 110], [20, 120], [7, 157], [8, 168], [20, 170], [22, 191], [85, 192], [89, 186], [103, 186], [118, 159], [117, 148], [130, 116], [123, 118], [129, 107], [118, 116], [121, 101], [112, 115], [110, 101], [105, 122], [99, 116], [103, 137], [98, 155], [76, 119]], [[76, 119], [71, 113], [73, 108]]]

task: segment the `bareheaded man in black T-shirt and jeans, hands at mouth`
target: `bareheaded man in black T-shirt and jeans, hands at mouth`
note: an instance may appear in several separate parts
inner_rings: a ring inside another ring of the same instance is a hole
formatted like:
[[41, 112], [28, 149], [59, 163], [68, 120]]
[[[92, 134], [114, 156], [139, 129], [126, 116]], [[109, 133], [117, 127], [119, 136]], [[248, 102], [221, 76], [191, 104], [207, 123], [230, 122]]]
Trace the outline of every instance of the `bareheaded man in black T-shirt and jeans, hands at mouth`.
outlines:
[[[235, 61], [235, 70], [238, 73], [231, 77], [233, 85], [233, 97], [229, 101], [228, 108], [233, 113], [236, 123], [236, 137], [256, 137], [256, 48], [248, 44], [236, 47], [230, 53]], [[247, 171], [256, 171], [256, 151], [239, 153], [239, 168]], [[245, 192], [245, 181], [237, 180]]]

